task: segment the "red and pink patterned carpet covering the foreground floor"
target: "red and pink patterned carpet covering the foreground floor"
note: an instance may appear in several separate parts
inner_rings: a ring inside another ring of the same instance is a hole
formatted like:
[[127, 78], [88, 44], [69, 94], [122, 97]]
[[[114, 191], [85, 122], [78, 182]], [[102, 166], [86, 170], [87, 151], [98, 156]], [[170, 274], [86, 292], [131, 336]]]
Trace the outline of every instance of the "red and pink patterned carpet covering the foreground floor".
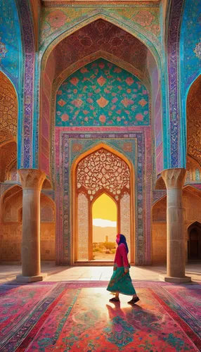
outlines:
[[134, 282], [141, 301], [109, 303], [107, 282], [0, 287], [0, 351], [201, 350], [201, 285]]

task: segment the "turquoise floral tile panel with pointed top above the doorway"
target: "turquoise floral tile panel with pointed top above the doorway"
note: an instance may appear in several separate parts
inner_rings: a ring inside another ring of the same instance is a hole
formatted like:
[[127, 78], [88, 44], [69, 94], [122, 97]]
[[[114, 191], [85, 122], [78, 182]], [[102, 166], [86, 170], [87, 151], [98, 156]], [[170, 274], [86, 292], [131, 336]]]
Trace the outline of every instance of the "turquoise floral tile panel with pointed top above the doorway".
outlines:
[[105, 59], [77, 70], [56, 96], [57, 126], [149, 125], [148, 90]]

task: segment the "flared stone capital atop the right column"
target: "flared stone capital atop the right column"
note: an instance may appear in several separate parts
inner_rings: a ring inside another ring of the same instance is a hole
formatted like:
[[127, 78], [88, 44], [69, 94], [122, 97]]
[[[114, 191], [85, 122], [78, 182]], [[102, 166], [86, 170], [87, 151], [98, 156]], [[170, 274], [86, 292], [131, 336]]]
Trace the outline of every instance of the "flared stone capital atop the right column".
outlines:
[[167, 189], [182, 189], [185, 182], [186, 169], [168, 169], [161, 172]]

